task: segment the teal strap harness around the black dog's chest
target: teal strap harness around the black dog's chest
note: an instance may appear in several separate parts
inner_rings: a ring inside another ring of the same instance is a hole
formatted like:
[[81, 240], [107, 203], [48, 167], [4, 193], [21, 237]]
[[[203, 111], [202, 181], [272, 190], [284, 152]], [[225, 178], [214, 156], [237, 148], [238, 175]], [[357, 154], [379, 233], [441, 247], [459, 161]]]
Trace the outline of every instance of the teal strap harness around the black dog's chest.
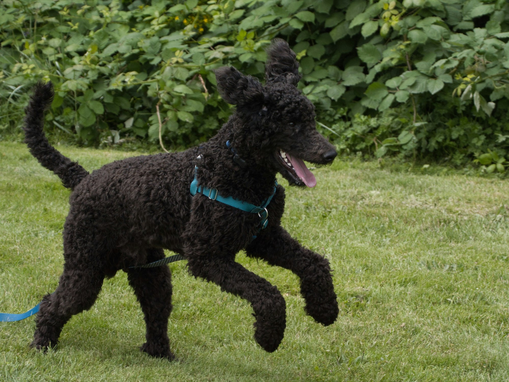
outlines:
[[[235, 199], [231, 196], [228, 196], [228, 197], [221, 196], [221, 195], [219, 195], [217, 188], [208, 188], [208, 187], [199, 185], [198, 178], [196, 176], [197, 169], [198, 169], [198, 167], [194, 166], [194, 179], [191, 182], [191, 186], [189, 189], [192, 196], [194, 196], [196, 194], [203, 194], [211, 200], [215, 200], [220, 203], [228, 204], [229, 206], [238, 208], [242, 211], [250, 212], [250, 213], [258, 213], [258, 216], [260, 216], [260, 224], [258, 225], [257, 235], [260, 233], [261, 230], [263, 230], [264, 228], [267, 227], [267, 224], [269, 223], [269, 211], [267, 211], [267, 206], [269, 205], [270, 201], [272, 200], [272, 197], [276, 193], [277, 180], [274, 182], [275, 184], [274, 184], [274, 190], [272, 192], [272, 195], [269, 196], [261, 206], [255, 206], [254, 204]], [[257, 235], [253, 235], [251, 238], [251, 241], [256, 239]]]

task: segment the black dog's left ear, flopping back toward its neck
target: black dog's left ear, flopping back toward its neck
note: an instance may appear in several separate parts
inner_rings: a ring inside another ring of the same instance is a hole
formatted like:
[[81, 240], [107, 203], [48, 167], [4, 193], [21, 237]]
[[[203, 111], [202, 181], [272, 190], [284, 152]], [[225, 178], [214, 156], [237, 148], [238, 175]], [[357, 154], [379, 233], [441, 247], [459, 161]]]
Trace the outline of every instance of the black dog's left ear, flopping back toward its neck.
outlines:
[[233, 66], [216, 69], [215, 73], [217, 90], [222, 99], [232, 105], [249, 105], [253, 109], [262, 106], [263, 87], [257, 78], [244, 75]]

